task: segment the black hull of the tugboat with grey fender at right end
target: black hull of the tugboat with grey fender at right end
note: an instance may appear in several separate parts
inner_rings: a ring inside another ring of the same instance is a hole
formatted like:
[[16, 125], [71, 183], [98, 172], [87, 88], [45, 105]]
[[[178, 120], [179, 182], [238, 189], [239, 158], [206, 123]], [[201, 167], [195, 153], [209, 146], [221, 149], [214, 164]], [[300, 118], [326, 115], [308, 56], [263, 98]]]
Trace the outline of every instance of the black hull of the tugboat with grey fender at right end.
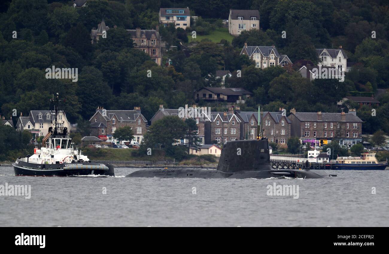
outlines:
[[94, 162], [65, 164], [35, 164], [19, 159], [12, 164], [16, 176], [74, 176], [107, 175], [114, 176], [114, 167]]

